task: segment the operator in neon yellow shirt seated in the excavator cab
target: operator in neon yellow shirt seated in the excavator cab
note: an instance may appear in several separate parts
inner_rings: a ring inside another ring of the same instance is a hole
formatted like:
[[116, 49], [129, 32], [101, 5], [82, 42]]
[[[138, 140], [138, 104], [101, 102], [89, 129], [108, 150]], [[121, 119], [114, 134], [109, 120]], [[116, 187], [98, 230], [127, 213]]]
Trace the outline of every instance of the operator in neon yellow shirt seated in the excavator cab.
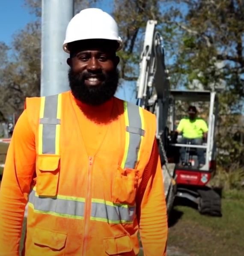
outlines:
[[[203, 139], [207, 138], [208, 126], [202, 118], [196, 116], [196, 107], [189, 106], [188, 117], [182, 118], [177, 127], [176, 132], [182, 133], [182, 144], [202, 145]], [[199, 168], [205, 165], [204, 150], [202, 148], [196, 149]], [[182, 166], [186, 165], [186, 149], [182, 147], [180, 149], [180, 158]]]

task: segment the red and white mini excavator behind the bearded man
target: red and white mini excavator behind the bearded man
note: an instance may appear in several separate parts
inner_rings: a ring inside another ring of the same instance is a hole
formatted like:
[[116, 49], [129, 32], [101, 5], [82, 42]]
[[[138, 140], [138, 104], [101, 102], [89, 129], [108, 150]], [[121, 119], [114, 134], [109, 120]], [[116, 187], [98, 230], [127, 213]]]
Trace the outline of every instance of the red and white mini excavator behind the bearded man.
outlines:
[[[140, 74], [137, 81], [137, 105], [157, 117], [159, 154], [164, 176], [167, 213], [173, 208], [175, 197], [184, 197], [198, 205], [199, 212], [221, 215], [220, 196], [206, 184], [216, 170], [215, 127], [217, 121], [217, 95], [205, 90], [170, 90], [170, 77], [164, 61], [163, 37], [156, 30], [157, 21], [146, 25]], [[177, 102], [205, 102], [208, 104], [208, 137], [202, 145], [181, 144], [176, 138]], [[181, 166], [179, 150], [185, 147], [187, 165]], [[199, 168], [196, 149], [205, 154], [205, 164]]]

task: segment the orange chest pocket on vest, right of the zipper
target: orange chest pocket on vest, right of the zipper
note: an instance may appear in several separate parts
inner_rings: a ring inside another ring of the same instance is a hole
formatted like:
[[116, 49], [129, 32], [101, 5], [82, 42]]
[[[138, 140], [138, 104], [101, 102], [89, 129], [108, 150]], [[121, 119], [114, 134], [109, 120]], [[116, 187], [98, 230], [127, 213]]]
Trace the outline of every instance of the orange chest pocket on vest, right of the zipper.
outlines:
[[134, 205], [138, 187], [139, 171], [118, 166], [113, 184], [113, 203]]

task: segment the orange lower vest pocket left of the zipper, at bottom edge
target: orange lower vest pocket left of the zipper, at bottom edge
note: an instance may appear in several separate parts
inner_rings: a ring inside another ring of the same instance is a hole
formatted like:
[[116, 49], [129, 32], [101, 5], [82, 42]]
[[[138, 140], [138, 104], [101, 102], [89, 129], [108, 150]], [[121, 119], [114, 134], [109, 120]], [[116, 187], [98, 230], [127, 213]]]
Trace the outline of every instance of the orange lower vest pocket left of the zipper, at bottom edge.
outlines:
[[62, 256], [65, 252], [67, 234], [64, 232], [36, 227], [33, 236], [33, 253], [30, 255]]

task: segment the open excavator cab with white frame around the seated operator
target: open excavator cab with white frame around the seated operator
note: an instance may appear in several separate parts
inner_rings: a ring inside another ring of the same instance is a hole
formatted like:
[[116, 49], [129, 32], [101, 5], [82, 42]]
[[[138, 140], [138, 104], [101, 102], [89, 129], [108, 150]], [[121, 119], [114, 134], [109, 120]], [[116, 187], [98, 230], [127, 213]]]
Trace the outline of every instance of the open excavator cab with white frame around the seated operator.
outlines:
[[[203, 111], [205, 112], [204, 117], [201, 116], [198, 118], [202, 118], [205, 120], [208, 126], [208, 136], [206, 140], [203, 140], [202, 145], [193, 145], [191, 143], [191, 139], [187, 140], [186, 144], [182, 144], [182, 135], [176, 136], [170, 136], [169, 139], [169, 148], [168, 151], [168, 158], [173, 160], [176, 163], [176, 168], [178, 169], [189, 169], [190, 171], [196, 170], [200, 172], [208, 172], [214, 174], [216, 170], [216, 136], [215, 136], [215, 127], [217, 126], [217, 111], [218, 111], [218, 99], [216, 92], [213, 91], [207, 91], [207, 90], [170, 90], [170, 108], [169, 108], [169, 117], [168, 117], [168, 127], [169, 127], [169, 133], [173, 134], [174, 131], [177, 129], [177, 124], [179, 123], [179, 120], [184, 117], [180, 116], [178, 114], [177, 116], [177, 105], [184, 105], [184, 102], [187, 102], [187, 104], [192, 105], [204, 105], [205, 109]], [[177, 104], [178, 103], [178, 104]], [[201, 104], [204, 103], [204, 104]], [[181, 160], [179, 159], [179, 154], [176, 154], [176, 152], [180, 151], [181, 148], [185, 148], [186, 154], [184, 163], [185, 165], [182, 166], [180, 163]], [[197, 157], [197, 149], [201, 149], [204, 151], [204, 158], [205, 163], [202, 167], [199, 168], [198, 163], [198, 157]], [[172, 155], [173, 154], [173, 159]], [[179, 174], [179, 173], [178, 173]], [[205, 176], [204, 176], [205, 177]], [[178, 178], [180, 176], [178, 175]], [[203, 184], [208, 183], [211, 176], [208, 175], [208, 180], [205, 178], [202, 179]], [[201, 178], [199, 180], [199, 184], [201, 181]], [[192, 184], [192, 181], [187, 180], [187, 184]], [[193, 184], [197, 184], [196, 181], [193, 182]]]

